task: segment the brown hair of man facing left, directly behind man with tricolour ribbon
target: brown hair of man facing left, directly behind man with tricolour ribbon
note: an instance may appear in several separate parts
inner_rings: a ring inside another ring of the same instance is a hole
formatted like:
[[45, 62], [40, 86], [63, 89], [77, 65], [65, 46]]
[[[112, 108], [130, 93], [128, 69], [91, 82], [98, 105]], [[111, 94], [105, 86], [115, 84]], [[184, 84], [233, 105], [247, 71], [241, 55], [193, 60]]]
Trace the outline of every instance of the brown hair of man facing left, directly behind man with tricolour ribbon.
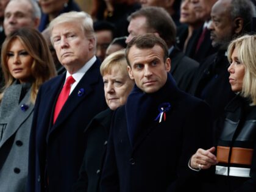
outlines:
[[146, 18], [146, 29], [149, 33], [157, 32], [168, 47], [172, 46], [176, 41], [176, 25], [169, 13], [162, 7], [143, 7], [133, 12], [128, 21], [138, 16]]

